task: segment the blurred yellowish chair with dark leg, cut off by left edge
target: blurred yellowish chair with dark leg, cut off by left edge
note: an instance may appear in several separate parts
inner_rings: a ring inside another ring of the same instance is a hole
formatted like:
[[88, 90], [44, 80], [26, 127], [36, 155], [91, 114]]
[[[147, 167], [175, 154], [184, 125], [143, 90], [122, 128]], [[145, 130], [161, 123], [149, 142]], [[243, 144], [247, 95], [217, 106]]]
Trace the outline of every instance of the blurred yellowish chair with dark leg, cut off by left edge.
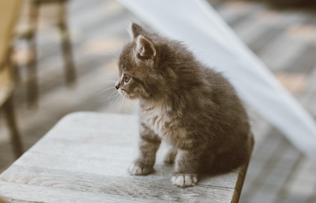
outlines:
[[4, 112], [8, 122], [16, 157], [22, 155], [22, 145], [13, 103], [14, 80], [10, 47], [15, 21], [20, 14], [20, 5], [20, 0], [0, 0], [0, 110]]

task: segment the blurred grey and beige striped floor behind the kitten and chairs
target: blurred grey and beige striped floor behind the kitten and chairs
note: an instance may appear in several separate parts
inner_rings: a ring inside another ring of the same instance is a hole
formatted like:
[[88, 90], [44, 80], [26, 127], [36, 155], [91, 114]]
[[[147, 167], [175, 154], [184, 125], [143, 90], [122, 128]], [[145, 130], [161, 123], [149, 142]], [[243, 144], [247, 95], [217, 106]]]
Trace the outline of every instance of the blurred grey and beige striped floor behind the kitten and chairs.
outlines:
[[[281, 83], [316, 116], [316, 14], [278, 11], [259, 3], [209, 0], [236, 34], [264, 61]], [[39, 140], [64, 115], [74, 111], [133, 113], [112, 94], [117, 79], [115, 54], [127, 38], [126, 27], [139, 20], [114, 0], [71, 1], [68, 23], [78, 81], [64, 80], [60, 36], [54, 8], [45, 6], [37, 34], [39, 102], [26, 103], [25, 64], [32, 52], [16, 40], [20, 82], [15, 91], [24, 149]], [[93, 11], [93, 12], [91, 12]], [[20, 24], [23, 27], [23, 21]], [[108, 89], [108, 90], [107, 90]], [[112, 95], [111, 95], [112, 94]], [[109, 99], [111, 98], [111, 99]], [[249, 109], [256, 145], [240, 202], [316, 202], [316, 163], [300, 154], [282, 134]], [[0, 117], [0, 172], [15, 160]]]

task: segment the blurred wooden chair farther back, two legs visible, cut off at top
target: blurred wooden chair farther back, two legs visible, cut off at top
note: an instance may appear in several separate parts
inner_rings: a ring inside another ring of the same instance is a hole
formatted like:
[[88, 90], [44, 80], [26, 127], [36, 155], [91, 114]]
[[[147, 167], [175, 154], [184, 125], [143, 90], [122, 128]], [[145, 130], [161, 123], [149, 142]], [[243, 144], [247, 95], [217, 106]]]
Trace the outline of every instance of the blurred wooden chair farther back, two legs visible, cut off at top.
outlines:
[[40, 7], [44, 4], [58, 4], [58, 23], [61, 35], [61, 47], [64, 58], [65, 78], [67, 84], [73, 84], [76, 82], [76, 73], [74, 62], [72, 58], [72, 49], [68, 26], [66, 22], [67, 16], [67, 3], [68, 0], [25, 0], [26, 5], [29, 7], [28, 13], [28, 30], [18, 38], [25, 39], [30, 49], [33, 52], [32, 60], [27, 64], [27, 101], [29, 106], [36, 106], [38, 100], [38, 87], [37, 87], [37, 63], [36, 63], [36, 31], [38, 29], [39, 11]]

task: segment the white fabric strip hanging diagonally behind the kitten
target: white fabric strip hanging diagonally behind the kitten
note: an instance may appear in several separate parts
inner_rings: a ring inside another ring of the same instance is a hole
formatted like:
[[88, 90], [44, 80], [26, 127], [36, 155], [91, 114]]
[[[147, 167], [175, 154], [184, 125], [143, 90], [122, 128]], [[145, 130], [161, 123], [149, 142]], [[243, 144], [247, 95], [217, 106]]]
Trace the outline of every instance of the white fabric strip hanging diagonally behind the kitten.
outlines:
[[165, 36], [189, 45], [198, 59], [234, 85], [248, 105], [316, 160], [316, 124], [269, 69], [204, 0], [118, 0]]

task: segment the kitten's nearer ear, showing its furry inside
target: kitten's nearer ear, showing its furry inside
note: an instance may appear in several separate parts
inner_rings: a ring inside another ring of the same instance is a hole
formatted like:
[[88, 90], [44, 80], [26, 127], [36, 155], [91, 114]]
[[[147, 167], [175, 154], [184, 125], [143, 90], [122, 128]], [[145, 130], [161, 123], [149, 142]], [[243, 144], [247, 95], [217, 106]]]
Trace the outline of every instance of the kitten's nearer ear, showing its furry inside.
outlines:
[[156, 49], [148, 38], [139, 35], [136, 39], [136, 54], [137, 57], [153, 59], [156, 55]]

